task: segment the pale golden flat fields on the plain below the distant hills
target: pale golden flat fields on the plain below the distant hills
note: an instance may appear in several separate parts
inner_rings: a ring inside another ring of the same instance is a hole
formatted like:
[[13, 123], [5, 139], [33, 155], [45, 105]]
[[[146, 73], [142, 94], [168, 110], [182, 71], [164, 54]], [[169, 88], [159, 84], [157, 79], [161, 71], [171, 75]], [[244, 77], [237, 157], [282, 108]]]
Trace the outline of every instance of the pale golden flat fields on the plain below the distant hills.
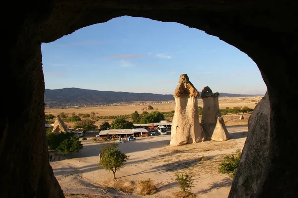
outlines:
[[[259, 102], [262, 99], [262, 97], [238, 97], [238, 98], [228, 98], [228, 97], [221, 97], [219, 98], [219, 104], [220, 108], [223, 109], [225, 107], [243, 107], [243, 106], [248, 106], [249, 108], [254, 108], [256, 103]], [[149, 101], [148, 101], [149, 102]], [[153, 102], [153, 101], [152, 101]], [[155, 111], [156, 108], [160, 112], [168, 112], [172, 111], [175, 108], [175, 103], [174, 100], [170, 103], [156, 103], [154, 102], [150, 104], [154, 110], [146, 110], [148, 112]], [[198, 105], [203, 107], [203, 100], [198, 99]], [[71, 115], [73, 112], [78, 114], [78, 113], [89, 113], [90, 112], [95, 112], [95, 116], [111, 116], [111, 115], [126, 115], [126, 114], [131, 114], [135, 112], [136, 110], [141, 114], [143, 111], [141, 110], [144, 107], [147, 107], [147, 105], [119, 105], [119, 106], [98, 106], [98, 107], [78, 107], [78, 108], [47, 108], [45, 109], [46, 114], [53, 114], [53, 115], [58, 115], [61, 112], [64, 112], [66, 114]], [[247, 124], [246, 118], [249, 117], [248, 114], [244, 114], [244, 120], [239, 120], [239, 114], [238, 115], [225, 115], [224, 121], [226, 126], [234, 126], [234, 125], [245, 125]], [[102, 122], [108, 121], [112, 122], [113, 119], [97, 119], [95, 122], [95, 125], [99, 126]], [[131, 120], [130, 120], [131, 121]], [[74, 122], [67, 122], [66, 123], [69, 127], [72, 127], [74, 125]]]

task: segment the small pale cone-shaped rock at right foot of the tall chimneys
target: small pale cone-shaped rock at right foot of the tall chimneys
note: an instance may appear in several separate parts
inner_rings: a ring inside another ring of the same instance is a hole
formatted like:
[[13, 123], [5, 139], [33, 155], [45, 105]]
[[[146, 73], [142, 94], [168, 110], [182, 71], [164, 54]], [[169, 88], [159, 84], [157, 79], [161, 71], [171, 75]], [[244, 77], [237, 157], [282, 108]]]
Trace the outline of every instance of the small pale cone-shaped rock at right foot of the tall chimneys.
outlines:
[[222, 141], [226, 141], [230, 138], [231, 137], [230, 137], [229, 133], [227, 132], [225, 124], [224, 124], [224, 118], [222, 116], [218, 117], [217, 124], [213, 131], [211, 140], [222, 142]]

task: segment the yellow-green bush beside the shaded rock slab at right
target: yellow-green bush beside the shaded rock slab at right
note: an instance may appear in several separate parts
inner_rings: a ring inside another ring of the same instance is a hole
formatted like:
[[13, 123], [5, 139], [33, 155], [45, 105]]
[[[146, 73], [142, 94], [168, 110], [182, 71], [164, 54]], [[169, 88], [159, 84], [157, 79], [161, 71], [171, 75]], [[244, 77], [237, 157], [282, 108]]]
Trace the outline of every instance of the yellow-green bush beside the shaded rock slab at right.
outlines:
[[231, 178], [234, 177], [241, 158], [241, 150], [237, 149], [236, 154], [227, 155], [224, 161], [220, 164], [219, 173], [228, 174]]

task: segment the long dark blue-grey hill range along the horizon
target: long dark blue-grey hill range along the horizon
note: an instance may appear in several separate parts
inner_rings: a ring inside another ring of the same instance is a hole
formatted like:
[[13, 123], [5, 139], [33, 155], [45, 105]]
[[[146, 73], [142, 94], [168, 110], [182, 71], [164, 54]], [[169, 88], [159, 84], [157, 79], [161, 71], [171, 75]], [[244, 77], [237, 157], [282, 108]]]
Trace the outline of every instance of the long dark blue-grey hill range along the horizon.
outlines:
[[[201, 93], [200, 93], [201, 94]], [[220, 97], [252, 97], [257, 95], [227, 94], [220, 93]], [[131, 101], [165, 101], [174, 100], [173, 95], [130, 93], [85, 90], [79, 88], [63, 88], [56, 90], [45, 90], [46, 104], [109, 104]]]

